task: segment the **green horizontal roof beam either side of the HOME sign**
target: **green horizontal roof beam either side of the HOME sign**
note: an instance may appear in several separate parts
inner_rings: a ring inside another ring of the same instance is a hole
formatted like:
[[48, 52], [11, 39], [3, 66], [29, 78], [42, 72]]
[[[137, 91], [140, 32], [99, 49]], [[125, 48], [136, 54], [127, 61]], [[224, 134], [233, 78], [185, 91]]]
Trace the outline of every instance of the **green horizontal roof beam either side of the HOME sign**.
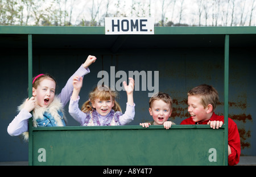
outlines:
[[[155, 27], [155, 35], [255, 34], [256, 27]], [[105, 35], [105, 27], [0, 26], [0, 34]]]

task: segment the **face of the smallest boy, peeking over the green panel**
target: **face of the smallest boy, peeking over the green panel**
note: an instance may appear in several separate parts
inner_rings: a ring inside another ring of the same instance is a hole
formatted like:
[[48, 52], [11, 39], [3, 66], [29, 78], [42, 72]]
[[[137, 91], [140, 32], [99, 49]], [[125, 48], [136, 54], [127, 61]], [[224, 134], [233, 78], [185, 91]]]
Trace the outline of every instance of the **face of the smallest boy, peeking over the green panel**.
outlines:
[[157, 125], [163, 125], [163, 123], [168, 120], [172, 113], [170, 104], [167, 104], [163, 100], [155, 100], [148, 111]]

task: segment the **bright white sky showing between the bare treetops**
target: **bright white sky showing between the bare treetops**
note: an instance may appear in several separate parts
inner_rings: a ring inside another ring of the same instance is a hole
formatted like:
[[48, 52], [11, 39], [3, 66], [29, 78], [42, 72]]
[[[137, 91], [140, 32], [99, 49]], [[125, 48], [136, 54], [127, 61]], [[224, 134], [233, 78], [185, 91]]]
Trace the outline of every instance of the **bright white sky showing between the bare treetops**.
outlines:
[[[109, 14], [116, 14], [117, 10], [119, 10], [119, 14], [117, 16], [122, 16], [122, 14], [126, 14], [126, 16], [129, 17], [135, 17], [135, 13], [138, 13], [138, 16], [149, 16], [149, 8], [148, 8], [148, 2], [151, 2], [151, 8], [150, 8], [150, 14], [151, 17], [155, 18], [155, 23], [159, 22], [161, 20], [162, 12], [165, 12], [166, 16], [166, 22], [172, 21], [174, 23], [186, 23], [189, 25], [193, 24], [199, 24], [199, 2], [201, 0], [176, 0], [175, 6], [174, 6], [174, 0], [120, 0], [119, 8], [117, 9], [117, 3], [118, 0], [110, 0], [109, 5]], [[215, 14], [218, 14], [218, 24], [225, 23], [225, 17], [226, 12], [229, 13], [228, 18], [228, 24], [231, 23], [231, 14], [232, 14], [232, 1], [236, 2], [236, 8], [234, 9], [234, 19], [236, 20], [236, 24], [233, 24], [233, 26], [240, 26], [240, 19], [241, 14], [243, 11], [242, 20], [245, 21], [245, 26], [249, 24], [249, 18], [250, 18], [250, 11], [251, 11], [251, 5], [253, 1], [255, 0], [230, 0], [229, 5], [228, 0], [220, 0], [220, 9], [217, 13], [217, 1], [219, 0], [203, 0], [203, 2], [208, 2], [206, 5], [207, 13], [208, 13], [208, 20], [205, 21], [205, 14], [203, 6], [201, 7], [202, 16], [201, 16], [201, 24], [209, 26], [213, 22], [213, 16], [212, 12], [214, 11]], [[100, 22], [100, 19], [102, 19], [102, 16], [106, 12], [106, 0], [68, 0], [68, 3], [73, 3], [75, 10], [73, 10], [72, 15], [72, 23], [77, 24], [80, 22], [81, 19], [89, 20], [91, 18], [91, 12], [92, 7], [93, 8], [93, 14], [96, 14], [97, 7], [100, 5], [99, 13], [96, 17], [97, 22]], [[131, 5], [132, 2], [135, 2], [135, 9], [133, 10], [133, 14], [131, 14]], [[164, 7], [162, 10], [162, 3], [164, 2]], [[180, 10], [181, 10], [181, 3], [182, 4], [182, 15], [181, 20], [180, 19]], [[93, 6], [94, 3], [94, 6]], [[169, 3], [169, 4], [168, 4]], [[244, 7], [243, 7], [244, 5]], [[254, 2], [254, 7], [256, 6], [256, 2]], [[173, 8], [175, 7], [175, 8]], [[143, 11], [143, 9], [145, 11]], [[174, 12], [172, 12], [174, 11]], [[251, 22], [252, 24], [256, 24], [256, 7], [253, 13], [253, 20]]]

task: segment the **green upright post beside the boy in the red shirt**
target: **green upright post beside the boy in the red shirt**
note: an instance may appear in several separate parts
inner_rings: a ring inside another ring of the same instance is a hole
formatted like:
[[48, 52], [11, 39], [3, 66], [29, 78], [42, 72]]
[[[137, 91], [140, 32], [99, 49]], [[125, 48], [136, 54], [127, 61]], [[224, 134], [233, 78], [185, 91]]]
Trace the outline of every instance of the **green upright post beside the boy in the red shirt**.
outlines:
[[224, 122], [225, 122], [225, 152], [224, 161], [228, 165], [228, 116], [229, 116], [229, 35], [225, 35], [225, 58], [224, 58]]

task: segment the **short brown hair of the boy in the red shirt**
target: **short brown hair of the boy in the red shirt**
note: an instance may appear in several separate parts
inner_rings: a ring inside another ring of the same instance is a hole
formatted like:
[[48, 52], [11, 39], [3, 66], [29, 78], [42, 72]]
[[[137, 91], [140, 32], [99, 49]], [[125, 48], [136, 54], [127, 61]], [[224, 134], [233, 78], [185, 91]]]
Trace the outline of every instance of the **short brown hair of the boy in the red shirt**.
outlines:
[[201, 104], [206, 108], [208, 104], [212, 104], [213, 111], [216, 109], [218, 102], [218, 91], [206, 84], [197, 86], [188, 91], [188, 96], [200, 96]]

